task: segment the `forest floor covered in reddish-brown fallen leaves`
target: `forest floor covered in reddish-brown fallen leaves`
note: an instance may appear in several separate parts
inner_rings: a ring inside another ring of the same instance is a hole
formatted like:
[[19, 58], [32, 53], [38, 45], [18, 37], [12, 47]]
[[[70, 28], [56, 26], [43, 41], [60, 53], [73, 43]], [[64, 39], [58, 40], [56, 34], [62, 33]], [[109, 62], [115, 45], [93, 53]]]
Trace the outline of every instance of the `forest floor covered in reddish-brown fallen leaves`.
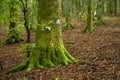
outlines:
[[[6, 70], [26, 59], [24, 52], [19, 51], [25, 41], [1, 45], [0, 80], [120, 80], [120, 18], [108, 18], [105, 23], [103, 26], [95, 26], [95, 32], [85, 34], [82, 33], [85, 22], [72, 18], [74, 29], [64, 30], [63, 40], [70, 54], [82, 62], [69, 66], [6, 75], [3, 74]], [[5, 40], [5, 32], [6, 29], [0, 27], [0, 42]], [[31, 40], [34, 42], [34, 34]]]

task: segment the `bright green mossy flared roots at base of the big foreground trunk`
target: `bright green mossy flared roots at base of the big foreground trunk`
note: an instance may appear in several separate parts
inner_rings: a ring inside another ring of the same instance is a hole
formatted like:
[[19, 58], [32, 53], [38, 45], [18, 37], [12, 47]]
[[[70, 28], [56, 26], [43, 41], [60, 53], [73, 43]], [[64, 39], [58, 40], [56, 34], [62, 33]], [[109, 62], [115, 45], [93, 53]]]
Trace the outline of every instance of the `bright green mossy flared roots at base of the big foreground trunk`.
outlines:
[[24, 62], [20, 63], [18, 66], [8, 70], [5, 74], [26, 70], [30, 72], [33, 68], [46, 68], [54, 67], [56, 65], [69, 65], [77, 62], [67, 51], [66, 49], [59, 49], [51, 53], [47, 53], [49, 56], [42, 58], [37, 51], [30, 55]]

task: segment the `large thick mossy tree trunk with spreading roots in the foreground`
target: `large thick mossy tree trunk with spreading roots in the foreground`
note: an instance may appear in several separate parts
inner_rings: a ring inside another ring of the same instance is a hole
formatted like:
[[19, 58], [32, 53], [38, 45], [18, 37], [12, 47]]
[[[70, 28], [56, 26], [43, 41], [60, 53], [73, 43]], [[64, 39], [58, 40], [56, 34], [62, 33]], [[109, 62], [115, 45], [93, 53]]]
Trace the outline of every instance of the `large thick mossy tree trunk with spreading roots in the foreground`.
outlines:
[[38, 26], [36, 46], [32, 54], [20, 65], [6, 73], [33, 68], [68, 65], [76, 60], [65, 49], [59, 23], [61, 0], [38, 0]]

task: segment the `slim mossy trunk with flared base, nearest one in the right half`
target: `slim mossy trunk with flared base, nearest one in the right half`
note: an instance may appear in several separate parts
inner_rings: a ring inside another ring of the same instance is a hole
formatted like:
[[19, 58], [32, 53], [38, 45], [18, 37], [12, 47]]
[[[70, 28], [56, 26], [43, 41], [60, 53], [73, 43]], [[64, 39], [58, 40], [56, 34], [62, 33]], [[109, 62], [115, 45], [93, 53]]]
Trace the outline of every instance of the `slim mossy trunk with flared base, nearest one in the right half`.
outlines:
[[84, 30], [85, 33], [93, 32], [95, 29], [93, 27], [92, 22], [92, 0], [88, 0], [88, 7], [87, 7], [87, 26]]

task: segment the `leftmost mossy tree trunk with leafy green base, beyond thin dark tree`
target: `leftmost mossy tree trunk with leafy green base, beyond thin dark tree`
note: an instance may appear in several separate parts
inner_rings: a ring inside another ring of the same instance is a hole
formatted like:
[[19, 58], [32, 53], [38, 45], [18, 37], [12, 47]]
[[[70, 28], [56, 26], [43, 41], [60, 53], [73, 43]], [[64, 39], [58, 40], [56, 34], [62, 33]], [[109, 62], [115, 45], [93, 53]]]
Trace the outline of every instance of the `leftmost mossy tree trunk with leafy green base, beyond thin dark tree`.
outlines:
[[10, 11], [10, 24], [9, 24], [9, 33], [7, 36], [7, 39], [5, 41], [5, 44], [9, 43], [17, 43], [22, 40], [20, 32], [18, 30], [18, 23], [17, 23], [17, 11], [18, 11], [18, 5], [16, 0], [10, 0], [9, 5], [9, 11]]

